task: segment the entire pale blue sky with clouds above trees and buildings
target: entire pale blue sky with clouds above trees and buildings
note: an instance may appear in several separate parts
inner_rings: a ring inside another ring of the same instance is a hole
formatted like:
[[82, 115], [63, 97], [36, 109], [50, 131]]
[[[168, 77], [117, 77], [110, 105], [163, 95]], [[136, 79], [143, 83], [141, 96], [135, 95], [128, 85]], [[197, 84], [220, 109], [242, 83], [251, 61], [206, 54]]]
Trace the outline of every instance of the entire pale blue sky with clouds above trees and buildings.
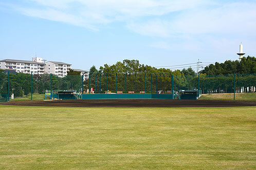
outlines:
[[252, 0], [0, 0], [0, 58], [36, 52], [84, 70], [236, 60], [241, 41], [256, 54], [255, 9]]

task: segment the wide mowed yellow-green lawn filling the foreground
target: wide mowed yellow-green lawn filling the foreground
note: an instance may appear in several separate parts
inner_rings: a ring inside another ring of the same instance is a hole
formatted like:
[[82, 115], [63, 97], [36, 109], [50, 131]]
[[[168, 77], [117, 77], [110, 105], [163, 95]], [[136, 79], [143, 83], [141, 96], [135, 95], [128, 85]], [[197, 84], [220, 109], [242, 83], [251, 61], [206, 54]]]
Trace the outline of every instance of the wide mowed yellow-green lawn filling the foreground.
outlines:
[[256, 107], [0, 106], [0, 169], [255, 169]]

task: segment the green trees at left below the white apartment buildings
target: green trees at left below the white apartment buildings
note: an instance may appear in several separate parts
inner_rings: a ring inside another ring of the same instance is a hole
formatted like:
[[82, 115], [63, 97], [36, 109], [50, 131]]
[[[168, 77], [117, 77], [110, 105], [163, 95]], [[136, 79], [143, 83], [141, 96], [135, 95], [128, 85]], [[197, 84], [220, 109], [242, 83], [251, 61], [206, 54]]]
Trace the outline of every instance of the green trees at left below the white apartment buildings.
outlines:
[[[77, 90], [81, 89], [81, 76], [77, 74], [67, 75], [65, 77], [58, 77], [50, 74], [25, 74], [25, 73], [10, 73], [10, 94], [14, 97], [20, 97], [31, 93], [44, 94], [46, 90]], [[50, 82], [50, 79], [52, 83]], [[8, 94], [8, 74], [4, 70], [0, 70], [0, 94]]]

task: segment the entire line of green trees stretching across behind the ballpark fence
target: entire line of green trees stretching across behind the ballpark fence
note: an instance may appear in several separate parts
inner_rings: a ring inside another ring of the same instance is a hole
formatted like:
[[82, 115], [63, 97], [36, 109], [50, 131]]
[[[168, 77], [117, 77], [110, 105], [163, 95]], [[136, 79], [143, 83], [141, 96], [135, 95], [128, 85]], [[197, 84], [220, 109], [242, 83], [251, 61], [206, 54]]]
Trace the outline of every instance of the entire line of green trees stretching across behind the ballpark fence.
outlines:
[[[117, 74], [116, 74], [117, 73]], [[239, 61], [227, 60], [224, 63], [216, 62], [200, 71], [199, 84], [203, 93], [233, 92], [233, 73], [235, 75], [236, 90], [240, 87], [256, 86], [256, 59], [244, 57]], [[83, 82], [84, 91], [94, 88], [96, 93], [104, 93], [126, 90], [136, 92], [146, 90], [147, 93], [156, 93], [158, 90], [168, 92], [171, 90], [173, 75], [173, 87], [178, 90], [195, 90], [198, 87], [198, 76], [193, 69], [171, 71], [170, 69], [151, 67], [139, 63], [139, 60], [125, 59], [114, 65], [105, 64], [99, 70], [95, 66], [90, 68], [90, 79]], [[126, 78], [125, 78], [126, 77]], [[151, 79], [152, 77], [152, 79]], [[125, 83], [126, 80], [126, 83]], [[8, 77], [4, 70], [0, 70], [0, 93], [8, 93]], [[89, 82], [90, 81], [90, 82]], [[152, 83], [151, 83], [152, 82]], [[52, 75], [52, 90], [77, 90], [81, 91], [82, 79], [80, 72], [70, 70], [65, 77]], [[152, 87], [151, 87], [152, 84]], [[40, 94], [50, 90], [50, 74], [33, 75], [32, 92]], [[31, 75], [24, 73], [10, 74], [10, 94], [15, 97], [27, 95], [31, 92]]]

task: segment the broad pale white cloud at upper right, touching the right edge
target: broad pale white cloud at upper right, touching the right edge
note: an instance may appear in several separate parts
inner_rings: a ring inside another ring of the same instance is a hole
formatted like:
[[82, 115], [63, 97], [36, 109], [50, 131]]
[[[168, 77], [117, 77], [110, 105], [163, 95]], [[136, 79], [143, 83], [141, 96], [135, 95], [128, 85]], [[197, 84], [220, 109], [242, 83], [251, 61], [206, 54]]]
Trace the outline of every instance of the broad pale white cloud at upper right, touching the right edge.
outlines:
[[255, 9], [255, 3], [231, 3], [212, 9], [185, 11], [170, 20], [132, 23], [127, 28], [142, 35], [159, 37], [202, 33], [256, 35]]

